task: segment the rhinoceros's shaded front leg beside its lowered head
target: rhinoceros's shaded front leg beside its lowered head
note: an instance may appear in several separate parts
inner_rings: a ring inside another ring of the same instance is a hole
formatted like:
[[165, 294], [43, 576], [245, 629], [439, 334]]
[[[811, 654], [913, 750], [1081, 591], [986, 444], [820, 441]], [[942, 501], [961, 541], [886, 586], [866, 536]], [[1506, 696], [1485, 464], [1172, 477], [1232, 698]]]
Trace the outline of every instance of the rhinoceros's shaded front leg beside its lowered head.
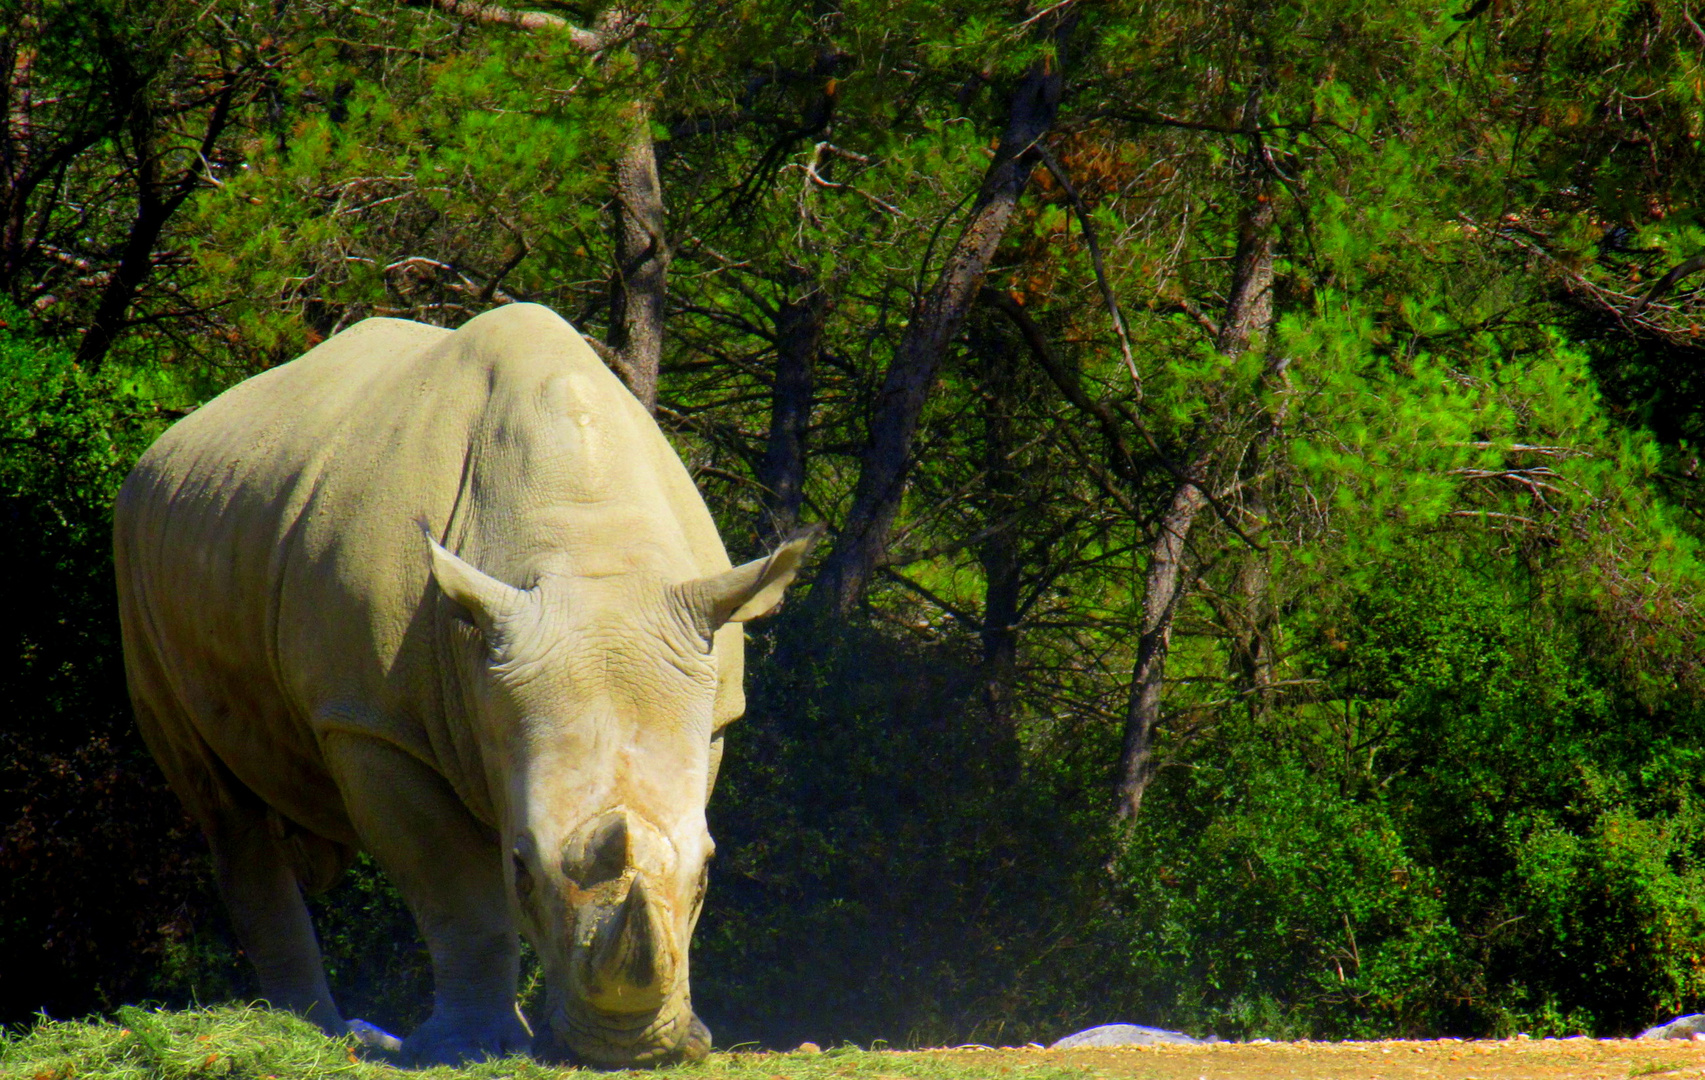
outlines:
[[457, 1065], [525, 1053], [532, 1032], [515, 1007], [520, 947], [489, 829], [409, 754], [350, 734], [324, 746], [361, 845], [397, 885], [431, 952], [433, 1012], [402, 1041], [402, 1058]]

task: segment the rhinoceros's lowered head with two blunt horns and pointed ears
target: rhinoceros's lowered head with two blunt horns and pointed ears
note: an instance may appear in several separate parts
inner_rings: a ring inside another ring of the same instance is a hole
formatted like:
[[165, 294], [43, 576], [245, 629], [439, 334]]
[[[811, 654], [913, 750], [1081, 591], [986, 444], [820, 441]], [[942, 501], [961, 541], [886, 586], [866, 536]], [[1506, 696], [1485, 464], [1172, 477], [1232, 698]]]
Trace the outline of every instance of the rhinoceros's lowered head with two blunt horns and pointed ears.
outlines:
[[510, 896], [546, 971], [544, 1056], [701, 1058], [687, 947], [714, 851], [716, 631], [772, 611], [817, 531], [726, 573], [491, 578], [436, 543], [433, 578], [484, 638], [483, 746], [503, 747]]

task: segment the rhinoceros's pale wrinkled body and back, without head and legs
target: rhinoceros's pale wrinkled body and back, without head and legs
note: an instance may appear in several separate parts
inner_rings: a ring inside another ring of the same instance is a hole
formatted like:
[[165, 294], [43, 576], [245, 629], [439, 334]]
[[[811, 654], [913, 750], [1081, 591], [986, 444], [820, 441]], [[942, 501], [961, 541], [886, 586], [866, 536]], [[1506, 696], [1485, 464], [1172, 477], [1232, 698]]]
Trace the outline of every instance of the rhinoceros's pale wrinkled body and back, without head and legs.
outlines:
[[[131, 698], [191, 812], [259, 798], [338, 862], [356, 838], [319, 740], [356, 730], [489, 814], [423, 529], [518, 587], [728, 566], [667, 440], [549, 311], [360, 322], [174, 425], [119, 493]], [[718, 636], [733, 698], [738, 648]]]

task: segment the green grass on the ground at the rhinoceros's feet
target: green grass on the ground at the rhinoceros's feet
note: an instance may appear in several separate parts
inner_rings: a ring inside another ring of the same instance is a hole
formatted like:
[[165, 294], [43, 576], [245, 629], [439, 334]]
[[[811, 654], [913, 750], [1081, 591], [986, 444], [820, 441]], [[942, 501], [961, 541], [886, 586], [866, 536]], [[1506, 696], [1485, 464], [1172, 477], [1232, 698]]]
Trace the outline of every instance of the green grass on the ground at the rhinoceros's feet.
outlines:
[[[1035, 1063], [1006, 1066], [1023, 1080], [1088, 1080], [1091, 1073]], [[363, 1054], [353, 1039], [329, 1039], [305, 1020], [252, 1005], [186, 1012], [124, 1007], [111, 1020], [39, 1020], [24, 1034], [0, 1032], [3, 1080], [518, 1080], [595, 1077], [588, 1070], [503, 1058], [464, 1068], [401, 1070]], [[873, 1053], [856, 1048], [812, 1054], [716, 1053], [699, 1065], [656, 1070], [658, 1080], [841, 1080], [870, 1077], [963, 1080], [989, 1075], [967, 1054]]]

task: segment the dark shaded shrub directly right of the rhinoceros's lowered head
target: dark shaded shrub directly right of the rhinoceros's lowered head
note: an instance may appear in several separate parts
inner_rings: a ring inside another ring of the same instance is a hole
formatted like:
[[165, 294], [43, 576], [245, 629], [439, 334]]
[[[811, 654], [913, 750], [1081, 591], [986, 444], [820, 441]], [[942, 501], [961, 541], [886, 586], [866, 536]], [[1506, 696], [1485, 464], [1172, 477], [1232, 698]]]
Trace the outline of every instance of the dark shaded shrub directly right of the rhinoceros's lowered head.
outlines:
[[1072, 1024], [1101, 971], [1084, 933], [1112, 834], [1096, 747], [1014, 771], [1014, 735], [951, 647], [806, 619], [760, 635], [711, 800], [694, 940], [711, 1029], [939, 1044]]

